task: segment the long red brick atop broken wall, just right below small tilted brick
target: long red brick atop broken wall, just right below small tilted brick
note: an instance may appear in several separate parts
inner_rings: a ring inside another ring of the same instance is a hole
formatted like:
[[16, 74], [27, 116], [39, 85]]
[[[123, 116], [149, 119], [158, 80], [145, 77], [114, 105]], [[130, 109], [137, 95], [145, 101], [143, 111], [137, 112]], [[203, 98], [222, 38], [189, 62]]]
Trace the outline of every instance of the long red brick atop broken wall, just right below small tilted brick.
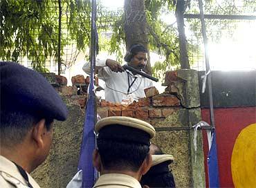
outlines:
[[153, 106], [179, 106], [180, 101], [174, 95], [156, 95], [152, 98]]

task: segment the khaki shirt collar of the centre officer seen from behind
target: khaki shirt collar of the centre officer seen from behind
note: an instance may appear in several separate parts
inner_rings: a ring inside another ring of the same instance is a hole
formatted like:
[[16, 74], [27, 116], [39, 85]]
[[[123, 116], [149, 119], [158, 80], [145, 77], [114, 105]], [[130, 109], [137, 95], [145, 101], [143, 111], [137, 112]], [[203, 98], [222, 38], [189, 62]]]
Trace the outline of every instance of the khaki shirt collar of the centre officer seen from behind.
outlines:
[[98, 178], [97, 182], [93, 186], [93, 188], [141, 188], [140, 182], [131, 176], [127, 176], [121, 173], [107, 173], [100, 178]]

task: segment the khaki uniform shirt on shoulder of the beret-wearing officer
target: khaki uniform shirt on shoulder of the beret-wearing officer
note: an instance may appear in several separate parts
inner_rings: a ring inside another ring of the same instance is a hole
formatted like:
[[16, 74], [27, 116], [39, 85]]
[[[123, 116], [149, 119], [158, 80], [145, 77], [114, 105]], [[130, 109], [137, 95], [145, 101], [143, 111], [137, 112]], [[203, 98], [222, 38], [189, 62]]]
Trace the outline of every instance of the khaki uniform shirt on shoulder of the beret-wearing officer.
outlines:
[[[19, 170], [17, 169], [15, 164], [13, 162], [11, 162], [10, 160], [8, 160], [7, 158], [0, 155], [0, 172], [1, 171], [6, 173], [8, 175], [8, 177], [9, 176], [13, 177], [13, 178], [19, 180], [19, 182], [21, 182], [22, 184], [27, 185], [26, 180], [24, 180], [24, 178], [21, 176], [21, 174], [19, 173]], [[27, 175], [28, 175], [28, 180], [29, 180], [30, 184], [33, 186], [33, 188], [39, 188], [39, 185], [29, 175], [29, 173], [27, 173]]]

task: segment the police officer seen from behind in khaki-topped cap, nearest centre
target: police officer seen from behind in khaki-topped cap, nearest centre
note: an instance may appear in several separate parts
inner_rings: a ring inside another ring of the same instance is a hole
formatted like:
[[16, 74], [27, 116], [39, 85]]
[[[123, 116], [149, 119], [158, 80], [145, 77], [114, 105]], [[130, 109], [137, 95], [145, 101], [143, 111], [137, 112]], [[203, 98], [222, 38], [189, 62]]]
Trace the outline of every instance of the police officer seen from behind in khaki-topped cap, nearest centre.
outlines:
[[155, 130], [151, 124], [128, 117], [103, 118], [95, 125], [97, 146], [93, 165], [100, 171], [94, 187], [138, 187], [140, 178], [152, 163], [149, 140]]

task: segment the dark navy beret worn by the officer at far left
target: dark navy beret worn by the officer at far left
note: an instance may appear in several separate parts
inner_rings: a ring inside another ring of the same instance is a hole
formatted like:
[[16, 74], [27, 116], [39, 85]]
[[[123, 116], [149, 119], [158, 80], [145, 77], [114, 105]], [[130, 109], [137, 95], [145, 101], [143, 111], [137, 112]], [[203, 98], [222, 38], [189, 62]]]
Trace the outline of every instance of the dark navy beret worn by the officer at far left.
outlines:
[[1, 111], [26, 111], [64, 121], [66, 105], [47, 79], [14, 62], [0, 62]]

